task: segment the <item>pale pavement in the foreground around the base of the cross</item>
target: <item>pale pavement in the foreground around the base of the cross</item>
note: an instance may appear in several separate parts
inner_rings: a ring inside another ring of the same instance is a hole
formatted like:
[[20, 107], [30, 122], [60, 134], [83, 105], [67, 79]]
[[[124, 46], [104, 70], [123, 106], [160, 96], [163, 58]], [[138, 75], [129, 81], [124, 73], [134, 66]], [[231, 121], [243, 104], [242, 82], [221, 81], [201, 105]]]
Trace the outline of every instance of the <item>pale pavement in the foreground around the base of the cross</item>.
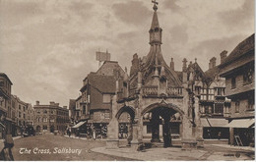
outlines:
[[232, 148], [231, 146], [205, 145], [205, 148], [182, 150], [180, 147], [154, 147], [144, 151], [134, 151], [129, 147], [119, 149], [106, 149], [105, 147], [93, 148], [92, 151], [106, 155], [132, 158], [140, 161], [179, 161], [179, 160], [204, 160], [204, 161], [241, 161], [254, 160], [254, 149]]

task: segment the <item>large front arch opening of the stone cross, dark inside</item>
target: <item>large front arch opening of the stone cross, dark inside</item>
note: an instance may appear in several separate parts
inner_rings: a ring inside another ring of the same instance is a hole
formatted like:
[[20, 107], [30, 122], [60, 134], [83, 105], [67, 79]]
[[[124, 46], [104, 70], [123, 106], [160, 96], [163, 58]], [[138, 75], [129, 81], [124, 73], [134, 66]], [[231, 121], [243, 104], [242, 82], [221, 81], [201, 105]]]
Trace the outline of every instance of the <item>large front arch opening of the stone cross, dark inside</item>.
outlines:
[[[147, 134], [151, 134], [151, 142], [160, 142], [163, 140], [163, 146], [172, 145], [172, 135], [180, 134], [181, 116], [183, 111], [173, 104], [156, 103], [148, 106], [142, 111], [144, 127], [147, 128]], [[175, 120], [173, 123], [172, 120]]]

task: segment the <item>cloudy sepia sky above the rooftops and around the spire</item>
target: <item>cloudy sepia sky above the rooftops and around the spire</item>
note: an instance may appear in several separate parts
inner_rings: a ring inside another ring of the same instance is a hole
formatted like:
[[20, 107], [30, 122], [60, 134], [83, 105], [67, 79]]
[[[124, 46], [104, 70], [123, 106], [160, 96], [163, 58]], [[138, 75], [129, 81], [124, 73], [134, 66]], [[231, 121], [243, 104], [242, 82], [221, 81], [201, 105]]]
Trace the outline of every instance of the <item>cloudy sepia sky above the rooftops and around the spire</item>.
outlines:
[[[158, 0], [161, 52], [166, 63], [227, 55], [254, 33], [254, 0]], [[149, 53], [151, 0], [0, 0], [0, 72], [23, 101], [68, 106], [96, 72], [96, 51], [122, 68]]]

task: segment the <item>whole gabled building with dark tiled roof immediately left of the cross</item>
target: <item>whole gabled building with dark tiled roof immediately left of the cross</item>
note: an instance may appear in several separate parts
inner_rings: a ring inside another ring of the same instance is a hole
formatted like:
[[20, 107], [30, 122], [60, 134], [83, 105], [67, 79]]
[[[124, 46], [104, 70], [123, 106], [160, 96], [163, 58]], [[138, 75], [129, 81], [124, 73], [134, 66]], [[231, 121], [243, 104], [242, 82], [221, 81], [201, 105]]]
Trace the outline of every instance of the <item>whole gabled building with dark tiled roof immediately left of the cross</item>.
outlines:
[[86, 127], [80, 126], [82, 134], [92, 135], [95, 130], [96, 135], [101, 135], [101, 130], [106, 129], [110, 121], [111, 98], [115, 92], [116, 79], [122, 80], [124, 76], [125, 72], [117, 62], [105, 61], [96, 73], [89, 74], [83, 81], [80, 89], [82, 94], [76, 99], [76, 110], [80, 110], [76, 112], [76, 119], [86, 121]]

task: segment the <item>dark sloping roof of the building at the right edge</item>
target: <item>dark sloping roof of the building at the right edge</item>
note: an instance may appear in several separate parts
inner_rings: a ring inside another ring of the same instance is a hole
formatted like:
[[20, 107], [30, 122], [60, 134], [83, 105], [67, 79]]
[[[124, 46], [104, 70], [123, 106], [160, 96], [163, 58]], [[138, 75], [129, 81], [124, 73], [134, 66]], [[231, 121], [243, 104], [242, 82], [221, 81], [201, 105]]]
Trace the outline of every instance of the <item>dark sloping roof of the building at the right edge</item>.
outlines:
[[232, 52], [224, 59], [224, 62], [220, 65], [223, 67], [225, 64], [238, 59], [239, 57], [245, 55], [249, 51], [254, 50], [254, 33], [241, 41]]

